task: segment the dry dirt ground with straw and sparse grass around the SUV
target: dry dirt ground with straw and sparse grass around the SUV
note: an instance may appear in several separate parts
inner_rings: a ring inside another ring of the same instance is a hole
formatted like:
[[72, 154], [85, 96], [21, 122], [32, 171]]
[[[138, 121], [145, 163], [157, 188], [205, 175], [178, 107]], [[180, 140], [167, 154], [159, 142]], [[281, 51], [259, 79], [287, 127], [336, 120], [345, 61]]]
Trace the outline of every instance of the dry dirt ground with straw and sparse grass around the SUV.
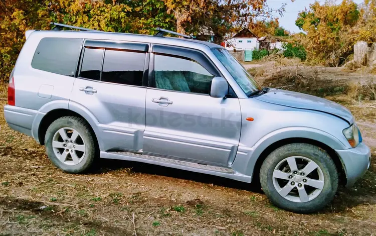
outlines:
[[[290, 79], [291, 68], [281, 68], [287, 72], [279, 77], [268, 77], [263, 66], [252, 73], [263, 74], [256, 77], [264, 85], [305, 88], [297, 81], [311, 72]], [[319, 73], [320, 81], [335, 77]], [[357, 99], [359, 89], [351, 86], [339, 93], [321, 87], [353, 112], [373, 159], [353, 188], [340, 188], [318, 213], [281, 210], [250, 184], [147, 164], [104, 160], [93, 173], [66, 174], [53, 167], [43, 146], [12, 131], [0, 112], [0, 235], [375, 235], [376, 102]], [[350, 92], [354, 97], [343, 95]]]

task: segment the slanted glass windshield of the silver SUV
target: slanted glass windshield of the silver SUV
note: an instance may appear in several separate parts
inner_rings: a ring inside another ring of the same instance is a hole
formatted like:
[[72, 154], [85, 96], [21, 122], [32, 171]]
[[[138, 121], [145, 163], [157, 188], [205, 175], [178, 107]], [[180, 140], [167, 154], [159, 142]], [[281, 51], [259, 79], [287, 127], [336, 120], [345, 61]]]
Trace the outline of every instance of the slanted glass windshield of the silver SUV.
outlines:
[[220, 60], [220, 62], [229, 71], [231, 76], [243, 89], [243, 91], [249, 96], [256, 90], [261, 90], [261, 86], [253, 79], [247, 70], [231, 55], [227, 49], [216, 48], [212, 49], [214, 55]]

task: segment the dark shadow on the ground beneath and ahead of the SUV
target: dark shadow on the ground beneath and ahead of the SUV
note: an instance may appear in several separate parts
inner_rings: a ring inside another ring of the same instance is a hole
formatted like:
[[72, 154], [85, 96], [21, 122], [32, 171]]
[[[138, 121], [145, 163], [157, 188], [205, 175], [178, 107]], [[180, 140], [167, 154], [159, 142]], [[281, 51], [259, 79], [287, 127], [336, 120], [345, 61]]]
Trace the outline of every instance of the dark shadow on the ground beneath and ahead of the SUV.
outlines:
[[[245, 183], [209, 174], [196, 173], [133, 161], [101, 159], [99, 165], [100, 168], [98, 168], [94, 173], [107, 173], [122, 168], [131, 168], [133, 173], [191, 180], [199, 183], [214, 184], [221, 187], [264, 194], [259, 181]], [[258, 180], [258, 177], [255, 177], [255, 179]], [[374, 204], [376, 204], [376, 156], [372, 156], [372, 165], [366, 174], [350, 189], [339, 186], [333, 201], [323, 208], [320, 213], [340, 213], [351, 210], [351, 208], [358, 205]]]

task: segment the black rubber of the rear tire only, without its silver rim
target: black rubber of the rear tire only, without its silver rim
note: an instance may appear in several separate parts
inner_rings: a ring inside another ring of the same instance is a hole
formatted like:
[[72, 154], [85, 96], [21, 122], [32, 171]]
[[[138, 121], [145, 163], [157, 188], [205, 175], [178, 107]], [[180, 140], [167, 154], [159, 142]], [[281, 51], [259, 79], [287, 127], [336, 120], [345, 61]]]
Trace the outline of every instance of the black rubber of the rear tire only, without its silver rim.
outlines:
[[[52, 141], [55, 133], [61, 128], [72, 128], [80, 134], [81, 139], [85, 144], [85, 153], [81, 157], [83, 158], [76, 165], [67, 165], [61, 162], [55, 155], [54, 148], [52, 147]], [[82, 118], [77, 116], [63, 116], [54, 121], [47, 129], [45, 136], [46, 152], [51, 162], [64, 172], [77, 174], [90, 170], [94, 161], [98, 156], [98, 147], [96, 145], [96, 138], [90, 125]]]

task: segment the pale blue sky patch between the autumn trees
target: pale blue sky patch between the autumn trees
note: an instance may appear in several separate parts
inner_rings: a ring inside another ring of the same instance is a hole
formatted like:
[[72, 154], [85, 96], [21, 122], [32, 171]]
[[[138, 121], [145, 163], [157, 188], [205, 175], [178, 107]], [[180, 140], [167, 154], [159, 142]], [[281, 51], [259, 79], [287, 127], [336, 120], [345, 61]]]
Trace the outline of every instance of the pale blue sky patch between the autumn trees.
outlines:
[[[360, 4], [362, 0], [353, 0], [355, 3]], [[295, 2], [291, 2], [291, 0], [266, 0], [269, 8], [278, 9], [281, 7], [283, 3], [286, 3], [286, 12], [283, 14], [283, 17], [276, 15], [279, 18], [279, 25], [285, 28], [286, 30], [290, 31], [291, 33], [298, 33], [301, 30], [295, 26], [295, 20], [298, 16], [298, 13], [303, 11], [304, 8], [309, 8], [309, 4], [313, 4], [315, 0], [295, 0]], [[325, 0], [318, 0], [320, 4], [325, 3]], [[336, 3], [340, 3], [340, 0], [336, 0]]]

